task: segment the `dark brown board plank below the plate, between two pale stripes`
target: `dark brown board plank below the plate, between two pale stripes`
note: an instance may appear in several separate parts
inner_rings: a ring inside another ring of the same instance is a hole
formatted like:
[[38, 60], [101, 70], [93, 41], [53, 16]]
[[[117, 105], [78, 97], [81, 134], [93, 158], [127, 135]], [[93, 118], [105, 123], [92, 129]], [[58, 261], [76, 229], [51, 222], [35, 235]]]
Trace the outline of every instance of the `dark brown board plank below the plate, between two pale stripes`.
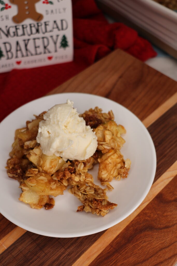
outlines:
[[103, 233], [78, 238], [52, 238], [26, 232], [0, 255], [0, 265], [69, 266]]

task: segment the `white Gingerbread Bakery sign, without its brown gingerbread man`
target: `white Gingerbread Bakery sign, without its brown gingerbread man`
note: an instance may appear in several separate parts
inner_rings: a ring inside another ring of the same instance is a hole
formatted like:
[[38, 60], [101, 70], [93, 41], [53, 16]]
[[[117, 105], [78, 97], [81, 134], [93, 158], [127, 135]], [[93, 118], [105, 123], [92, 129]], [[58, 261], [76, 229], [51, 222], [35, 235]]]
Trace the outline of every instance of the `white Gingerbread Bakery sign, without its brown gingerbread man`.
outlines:
[[[28, 6], [33, 0], [20, 1]], [[11, 7], [0, 11], [0, 73], [73, 60], [71, 0], [41, 0], [34, 5], [43, 19], [27, 18], [18, 24], [12, 20], [18, 6], [3, 2]], [[0, 10], [2, 7], [0, 2]]]

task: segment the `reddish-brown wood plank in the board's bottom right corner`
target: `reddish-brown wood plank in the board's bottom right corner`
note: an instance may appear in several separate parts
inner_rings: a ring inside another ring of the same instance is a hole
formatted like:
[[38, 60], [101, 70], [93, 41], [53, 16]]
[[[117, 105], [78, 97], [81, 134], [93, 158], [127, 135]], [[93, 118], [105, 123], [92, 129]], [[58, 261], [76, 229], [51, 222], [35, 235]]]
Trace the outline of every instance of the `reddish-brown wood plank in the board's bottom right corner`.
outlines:
[[89, 266], [172, 266], [177, 259], [177, 176]]

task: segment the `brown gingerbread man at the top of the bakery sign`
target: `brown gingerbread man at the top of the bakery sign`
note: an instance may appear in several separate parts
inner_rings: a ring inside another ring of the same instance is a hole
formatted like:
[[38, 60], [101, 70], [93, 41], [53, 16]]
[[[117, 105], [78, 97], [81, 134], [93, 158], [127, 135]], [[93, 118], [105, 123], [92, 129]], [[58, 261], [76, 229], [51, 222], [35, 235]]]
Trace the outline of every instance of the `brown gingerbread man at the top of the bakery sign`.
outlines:
[[12, 4], [18, 6], [17, 15], [13, 16], [12, 20], [15, 23], [21, 23], [27, 18], [35, 21], [43, 19], [43, 15], [36, 11], [35, 3], [40, 0], [9, 0]]

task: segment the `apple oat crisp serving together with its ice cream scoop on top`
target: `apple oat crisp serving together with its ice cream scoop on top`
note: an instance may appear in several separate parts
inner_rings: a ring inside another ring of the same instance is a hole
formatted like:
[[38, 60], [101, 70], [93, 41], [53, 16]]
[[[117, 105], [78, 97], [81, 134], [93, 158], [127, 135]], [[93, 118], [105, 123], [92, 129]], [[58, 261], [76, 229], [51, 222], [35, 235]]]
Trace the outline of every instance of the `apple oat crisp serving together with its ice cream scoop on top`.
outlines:
[[[81, 202], [77, 211], [106, 215], [117, 206], [106, 195], [113, 189], [110, 182], [127, 177], [130, 169], [130, 160], [120, 152], [124, 133], [112, 111], [95, 107], [79, 115], [70, 100], [27, 121], [15, 131], [6, 167], [8, 176], [20, 183], [19, 200], [48, 210], [55, 205], [51, 196], [68, 188]], [[94, 164], [99, 164], [98, 180], [106, 188], [94, 184], [88, 173]]]

